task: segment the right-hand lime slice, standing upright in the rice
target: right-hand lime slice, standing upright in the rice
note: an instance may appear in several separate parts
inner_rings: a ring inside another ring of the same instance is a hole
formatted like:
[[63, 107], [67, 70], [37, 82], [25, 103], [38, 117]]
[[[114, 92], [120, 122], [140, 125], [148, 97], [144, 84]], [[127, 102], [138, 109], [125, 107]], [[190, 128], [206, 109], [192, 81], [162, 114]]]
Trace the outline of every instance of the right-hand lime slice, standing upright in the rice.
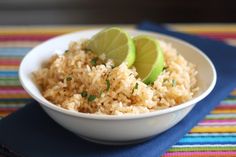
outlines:
[[164, 58], [159, 43], [155, 38], [140, 35], [134, 38], [136, 59], [134, 66], [138, 76], [146, 84], [157, 79], [164, 67]]

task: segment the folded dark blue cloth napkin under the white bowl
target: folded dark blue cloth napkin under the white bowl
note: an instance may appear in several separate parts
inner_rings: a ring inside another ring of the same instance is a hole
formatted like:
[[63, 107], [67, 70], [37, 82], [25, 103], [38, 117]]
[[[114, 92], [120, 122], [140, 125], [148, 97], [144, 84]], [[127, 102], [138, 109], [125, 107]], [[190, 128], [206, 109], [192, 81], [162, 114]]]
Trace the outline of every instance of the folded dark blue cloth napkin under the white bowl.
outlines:
[[105, 146], [87, 142], [65, 130], [50, 119], [37, 102], [32, 102], [0, 121], [0, 153], [25, 157], [157, 157], [175, 144], [236, 87], [235, 47], [219, 41], [172, 32], [148, 22], [140, 24], [138, 29], [186, 40], [205, 52], [216, 67], [216, 87], [181, 122], [144, 143]]

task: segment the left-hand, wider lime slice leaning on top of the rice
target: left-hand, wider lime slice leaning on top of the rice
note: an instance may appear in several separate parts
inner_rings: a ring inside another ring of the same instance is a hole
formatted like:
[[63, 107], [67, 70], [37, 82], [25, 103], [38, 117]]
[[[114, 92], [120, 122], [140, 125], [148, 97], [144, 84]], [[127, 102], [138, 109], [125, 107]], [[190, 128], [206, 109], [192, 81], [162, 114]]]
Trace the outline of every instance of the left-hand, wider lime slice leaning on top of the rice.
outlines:
[[116, 66], [125, 62], [130, 67], [135, 60], [133, 40], [120, 28], [107, 28], [95, 34], [87, 48], [98, 56], [104, 54], [105, 58], [112, 59]]

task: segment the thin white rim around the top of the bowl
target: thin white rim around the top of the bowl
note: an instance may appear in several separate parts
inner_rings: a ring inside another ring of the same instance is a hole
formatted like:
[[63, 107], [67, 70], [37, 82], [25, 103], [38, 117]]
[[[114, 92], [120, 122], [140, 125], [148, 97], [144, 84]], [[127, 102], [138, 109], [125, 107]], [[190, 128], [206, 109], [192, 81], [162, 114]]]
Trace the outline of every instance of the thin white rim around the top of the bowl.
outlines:
[[126, 119], [139, 119], [139, 118], [148, 118], [148, 117], [153, 117], [153, 116], [158, 116], [158, 115], [163, 115], [166, 113], [171, 113], [174, 111], [178, 111], [184, 108], [187, 108], [189, 106], [195, 105], [197, 102], [201, 101], [202, 99], [204, 99], [215, 87], [216, 85], [216, 80], [217, 80], [217, 73], [216, 73], [216, 69], [214, 64], [212, 63], [212, 61], [209, 59], [209, 57], [200, 49], [198, 49], [197, 47], [195, 47], [194, 45], [188, 43], [187, 41], [184, 41], [182, 39], [170, 36], [170, 35], [165, 35], [162, 33], [158, 33], [158, 32], [152, 32], [152, 31], [144, 31], [144, 30], [138, 30], [138, 29], [132, 29], [132, 28], [125, 28], [125, 30], [127, 31], [134, 31], [134, 32], [142, 32], [142, 33], [147, 33], [150, 35], [159, 35], [165, 38], [170, 38], [171, 40], [175, 40], [180, 44], [186, 45], [192, 49], [194, 49], [195, 51], [197, 51], [197, 53], [199, 53], [201, 55], [201, 57], [203, 57], [210, 65], [210, 68], [213, 72], [213, 80], [211, 81], [210, 85], [208, 86], [208, 88], [203, 91], [200, 95], [198, 95], [197, 97], [190, 99], [182, 104], [179, 104], [177, 106], [173, 106], [170, 108], [166, 108], [166, 109], [162, 109], [162, 110], [156, 110], [156, 111], [152, 111], [152, 112], [147, 112], [147, 113], [140, 113], [140, 114], [127, 114], [127, 115], [99, 115], [99, 114], [90, 114], [90, 113], [82, 113], [82, 112], [76, 112], [76, 111], [72, 111], [72, 110], [67, 110], [64, 109], [62, 107], [59, 107], [53, 103], [51, 103], [50, 101], [46, 100], [46, 99], [41, 99], [38, 96], [36, 96], [34, 94], [34, 92], [32, 92], [27, 85], [25, 84], [25, 81], [23, 79], [23, 64], [25, 62], [25, 60], [27, 59], [27, 56], [29, 56], [30, 53], [33, 53], [35, 49], [37, 49], [38, 47], [40, 47], [41, 45], [50, 42], [52, 40], [56, 40], [57, 38], [63, 38], [66, 36], [70, 36], [76, 33], [86, 33], [86, 32], [91, 32], [91, 31], [99, 31], [101, 30], [100, 28], [98, 29], [88, 29], [88, 30], [82, 30], [82, 31], [77, 31], [77, 32], [72, 32], [72, 33], [67, 33], [64, 35], [59, 35], [56, 37], [53, 37], [49, 40], [46, 40], [44, 42], [42, 42], [41, 44], [37, 45], [36, 47], [34, 47], [33, 49], [31, 49], [22, 59], [20, 66], [19, 66], [19, 79], [20, 79], [20, 83], [23, 86], [23, 88], [26, 90], [26, 92], [33, 98], [35, 99], [37, 102], [39, 102], [39, 104], [44, 108], [47, 107], [48, 109], [66, 114], [66, 115], [70, 115], [70, 116], [74, 116], [74, 117], [80, 117], [80, 118], [85, 118], [85, 119], [97, 119], [97, 120], [126, 120]]

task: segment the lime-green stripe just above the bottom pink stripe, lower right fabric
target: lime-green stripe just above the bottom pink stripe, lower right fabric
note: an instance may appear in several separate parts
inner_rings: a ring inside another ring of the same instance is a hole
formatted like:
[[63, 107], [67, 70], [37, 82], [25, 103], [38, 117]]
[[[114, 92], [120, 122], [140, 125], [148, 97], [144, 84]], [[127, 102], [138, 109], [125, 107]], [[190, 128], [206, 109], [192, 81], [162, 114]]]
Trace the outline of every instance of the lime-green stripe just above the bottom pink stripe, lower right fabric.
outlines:
[[174, 147], [169, 149], [169, 152], [192, 152], [192, 151], [234, 151], [235, 146], [232, 147]]

